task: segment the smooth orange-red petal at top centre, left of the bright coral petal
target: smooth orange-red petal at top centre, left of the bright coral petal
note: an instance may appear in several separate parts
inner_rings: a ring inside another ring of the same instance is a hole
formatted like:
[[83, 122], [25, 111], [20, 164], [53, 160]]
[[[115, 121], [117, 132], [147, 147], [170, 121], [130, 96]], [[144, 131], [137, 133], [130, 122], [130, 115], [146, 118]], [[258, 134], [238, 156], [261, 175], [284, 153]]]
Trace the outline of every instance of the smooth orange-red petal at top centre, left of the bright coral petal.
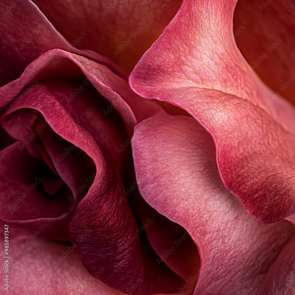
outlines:
[[[130, 73], [181, 0], [34, 1], [75, 47], [112, 58]], [[79, 38], [81, 32], [87, 34]]]

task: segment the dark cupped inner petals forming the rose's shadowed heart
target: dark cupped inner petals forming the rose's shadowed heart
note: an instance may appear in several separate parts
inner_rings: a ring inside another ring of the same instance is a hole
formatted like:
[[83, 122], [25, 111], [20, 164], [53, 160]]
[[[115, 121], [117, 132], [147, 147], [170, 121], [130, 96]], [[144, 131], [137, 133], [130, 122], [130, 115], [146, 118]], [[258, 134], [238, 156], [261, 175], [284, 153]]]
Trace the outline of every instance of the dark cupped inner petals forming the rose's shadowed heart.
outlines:
[[0, 175], [1, 219], [42, 237], [68, 240], [67, 224], [87, 191], [75, 199], [72, 192], [95, 176], [93, 161], [53, 132], [39, 112], [20, 107], [21, 102], [1, 118], [6, 131], [19, 140], [0, 152], [7, 167]]

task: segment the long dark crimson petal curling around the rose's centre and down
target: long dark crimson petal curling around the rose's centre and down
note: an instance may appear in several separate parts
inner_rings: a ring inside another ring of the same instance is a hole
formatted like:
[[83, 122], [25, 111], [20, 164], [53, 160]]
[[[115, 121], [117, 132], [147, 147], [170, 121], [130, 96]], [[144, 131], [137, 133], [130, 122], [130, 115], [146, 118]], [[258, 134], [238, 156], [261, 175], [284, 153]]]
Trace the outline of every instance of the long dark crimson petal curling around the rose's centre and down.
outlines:
[[[183, 280], [165, 264], [158, 266], [157, 255], [148, 244], [141, 245], [141, 239], [131, 239], [137, 235], [137, 224], [124, 193], [119, 167], [116, 167], [116, 158], [112, 155], [111, 146], [117, 139], [113, 139], [114, 142], [108, 144], [104, 142], [108, 136], [101, 130], [109, 128], [107, 126], [109, 122], [105, 120], [105, 117], [96, 116], [93, 118], [94, 122], [87, 123], [84, 111], [89, 101], [86, 97], [83, 98], [82, 95], [81, 98], [77, 98], [77, 101], [67, 102], [70, 94], [76, 91], [76, 85], [63, 80], [40, 82], [30, 91], [17, 97], [14, 106], [8, 110], [7, 116], [9, 117], [13, 111], [20, 108], [36, 109], [57, 135], [80, 148], [93, 160], [96, 175], [86, 176], [85, 179], [79, 177], [80, 182], [76, 184], [76, 187], [68, 184], [76, 200], [80, 199], [81, 192], [87, 191], [86, 196], [76, 207], [68, 227], [73, 246], [89, 272], [95, 274], [99, 272], [99, 266], [104, 265], [107, 271], [101, 274], [101, 280], [115, 289], [130, 294], [173, 292], [183, 284]], [[86, 89], [83, 91], [87, 94]], [[95, 96], [90, 98], [95, 99]], [[95, 114], [92, 111], [88, 115], [92, 113]], [[5, 122], [9, 124], [9, 121]], [[89, 127], [91, 131], [86, 131], [86, 127]], [[10, 128], [13, 130], [11, 126]], [[21, 129], [21, 127], [18, 128]], [[101, 136], [100, 133], [102, 133]], [[58, 152], [55, 143], [60, 146], [61, 139], [52, 140], [53, 135], [48, 135], [47, 131], [45, 135], [40, 133], [39, 137], [56, 171], [60, 173], [58, 168], [66, 161], [63, 160], [60, 164], [57, 160]], [[79, 158], [77, 161], [81, 164]], [[85, 163], [82, 163], [84, 168]], [[70, 163], [66, 166], [70, 167]], [[71, 177], [71, 173], [69, 174], [68, 177]], [[91, 184], [92, 181], [89, 181], [89, 178], [94, 176], [95, 179]], [[118, 200], [120, 206], [114, 207], [110, 214], [109, 209]], [[89, 228], [91, 231], [87, 230]], [[136, 276], [134, 276], [135, 273]], [[114, 276], [116, 280], [113, 279]], [[138, 282], [140, 284], [137, 288], [130, 289]]]

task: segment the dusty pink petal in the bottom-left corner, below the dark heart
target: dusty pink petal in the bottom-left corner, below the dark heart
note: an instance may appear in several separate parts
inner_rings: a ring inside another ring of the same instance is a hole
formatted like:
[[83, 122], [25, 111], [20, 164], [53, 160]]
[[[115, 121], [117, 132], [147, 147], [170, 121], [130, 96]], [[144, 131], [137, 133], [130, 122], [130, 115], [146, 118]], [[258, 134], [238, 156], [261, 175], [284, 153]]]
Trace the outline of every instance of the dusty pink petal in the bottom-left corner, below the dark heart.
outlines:
[[[4, 224], [1, 222], [1, 234]], [[120, 295], [123, 294], [91, 276], [73, 247], [42, 240], [9, 224], [9, 273], [1, 261], [1, 293], [9, 275], [12, 295]], [[1, 254], [4, 254], [1, 250]], [[105, 271], [101, 266], [101, 271]]]

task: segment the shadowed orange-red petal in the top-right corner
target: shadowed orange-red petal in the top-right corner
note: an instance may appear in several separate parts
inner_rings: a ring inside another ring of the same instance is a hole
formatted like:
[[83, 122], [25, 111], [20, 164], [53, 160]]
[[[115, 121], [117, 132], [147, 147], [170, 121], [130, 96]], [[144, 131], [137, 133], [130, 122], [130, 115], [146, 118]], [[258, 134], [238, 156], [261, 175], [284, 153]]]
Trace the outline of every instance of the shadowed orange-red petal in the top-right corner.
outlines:
[[233, 19], [235, 40], [245, 59], [274, 92], [278, 91], [293, 105], [294, 17], [294, 1], [239, 0]]

